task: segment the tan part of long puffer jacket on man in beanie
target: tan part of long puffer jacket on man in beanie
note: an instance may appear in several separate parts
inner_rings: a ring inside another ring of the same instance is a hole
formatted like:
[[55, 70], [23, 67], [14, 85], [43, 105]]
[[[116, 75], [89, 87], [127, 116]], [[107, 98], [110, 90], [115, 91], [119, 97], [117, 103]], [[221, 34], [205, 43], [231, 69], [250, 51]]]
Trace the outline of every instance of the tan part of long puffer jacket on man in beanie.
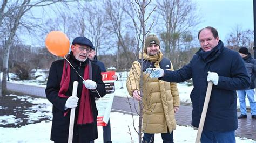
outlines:
[[[159, 62], [163, 54], [148, 56], [143, 54], [143, 59], [155, 62], [155, 67], [160, 68]], [[140, 63], [133, 62], [126, 87], [132, 96], [134, 90], [140, 90]], [[171, 65], [170, 70], [173, 70]], [[170, 83], [150, 78], [143, 73], [143, 132], [145, 133], [171, 133], [176, 128], [173, 106], [179, 106], [179, 92], [177, 83]]]

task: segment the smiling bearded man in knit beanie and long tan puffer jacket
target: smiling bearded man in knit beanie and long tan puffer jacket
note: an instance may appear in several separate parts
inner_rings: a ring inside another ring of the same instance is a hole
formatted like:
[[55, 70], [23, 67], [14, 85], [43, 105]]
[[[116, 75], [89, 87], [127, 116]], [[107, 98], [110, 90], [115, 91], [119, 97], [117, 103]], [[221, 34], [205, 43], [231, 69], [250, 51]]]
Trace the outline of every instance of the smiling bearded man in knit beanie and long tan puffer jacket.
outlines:
[[[149, 35], [145, 39], [143, 69], [140, 60], [134, 61], [126, 81], [129, 94], [143, 103], [143, 142], [153, 142], [154, 134], [161, 133], [164, 142], [173, 142], [173, 130], [176, 128], [174, 113], [179, 110], [179, 92], [177, 83], [170, 83], [149, 78], [149, 74], [141, 75], [146, 68], [162, 68], [173, 70], [171, 61], [163, 57], [160, 51], [160, 41], [156, 35]], [[140, 79], [143, 78], [140, 95]]]

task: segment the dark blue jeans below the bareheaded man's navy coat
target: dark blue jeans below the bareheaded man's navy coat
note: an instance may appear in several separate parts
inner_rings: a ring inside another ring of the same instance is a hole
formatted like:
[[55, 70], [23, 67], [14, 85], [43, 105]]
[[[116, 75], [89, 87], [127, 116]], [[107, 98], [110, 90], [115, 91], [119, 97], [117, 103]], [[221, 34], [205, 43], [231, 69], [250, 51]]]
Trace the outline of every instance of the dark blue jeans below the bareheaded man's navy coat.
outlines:
[[201, 143], [234, 143], [235, 131], [219, 132], [219, 131], [204, 131], [201, 135]]

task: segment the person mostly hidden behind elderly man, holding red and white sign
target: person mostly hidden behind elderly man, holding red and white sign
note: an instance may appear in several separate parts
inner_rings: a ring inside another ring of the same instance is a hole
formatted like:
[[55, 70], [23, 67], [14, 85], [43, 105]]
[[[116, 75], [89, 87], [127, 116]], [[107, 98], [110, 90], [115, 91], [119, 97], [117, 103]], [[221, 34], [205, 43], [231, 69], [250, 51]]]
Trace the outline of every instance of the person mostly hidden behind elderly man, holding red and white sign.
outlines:
[[[103, 62], [98, 61], [97, 56], [96, 56], [96, 52], [95, 52], [95, 47], [91, 47], [90, 48], [90, 52], [88, 55], [88, 58], [90, 59], [90, 61], [96, 63], [96, 65], [98, 65], [100, 67], [101, 72], [106, 72], [106, 68]], [[117, 75], [113, 75], [112, 76], [113, 80], [117, 80]], [[111, 143], [111, 126], [110, 126], [110, 119], [109, 122], [107, 123], [106, 126], [103, 126], [103, 141], [104, 143]], [[91, 141], [91, 143], [94, 141]]]

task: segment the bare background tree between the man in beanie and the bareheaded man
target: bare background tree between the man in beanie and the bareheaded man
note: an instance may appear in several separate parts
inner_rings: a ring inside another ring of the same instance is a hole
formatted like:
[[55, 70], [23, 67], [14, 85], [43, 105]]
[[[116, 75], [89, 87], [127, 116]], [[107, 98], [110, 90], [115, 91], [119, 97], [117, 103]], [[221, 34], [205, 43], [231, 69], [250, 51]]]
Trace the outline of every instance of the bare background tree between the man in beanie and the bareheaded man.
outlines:
[[183, 41], [183, 35], [190, 34], [191, 29], [200, 21], [196, 4], [191, 0], [163, 0], [158, 2], [157, 12], [160, 15], [158, 21], [163, 19], [165, 25], [160, 34], [164, 42], [162, 47], [165, 49], [165, 56], [170, 58], [175, 66], [180, 61], [178, 52], [183, 45], [180, 43]]

